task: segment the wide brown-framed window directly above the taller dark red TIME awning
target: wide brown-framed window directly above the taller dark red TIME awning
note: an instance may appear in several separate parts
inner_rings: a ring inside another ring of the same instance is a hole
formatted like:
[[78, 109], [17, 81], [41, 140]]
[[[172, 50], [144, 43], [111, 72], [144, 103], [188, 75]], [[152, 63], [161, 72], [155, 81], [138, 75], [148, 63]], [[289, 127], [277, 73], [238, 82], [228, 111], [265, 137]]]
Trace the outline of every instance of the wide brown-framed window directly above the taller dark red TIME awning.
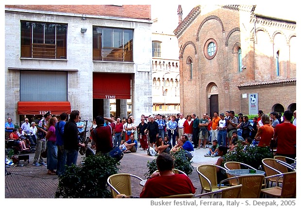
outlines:
[[133, 30], [94, 26], [93, 60], [133, 62]]

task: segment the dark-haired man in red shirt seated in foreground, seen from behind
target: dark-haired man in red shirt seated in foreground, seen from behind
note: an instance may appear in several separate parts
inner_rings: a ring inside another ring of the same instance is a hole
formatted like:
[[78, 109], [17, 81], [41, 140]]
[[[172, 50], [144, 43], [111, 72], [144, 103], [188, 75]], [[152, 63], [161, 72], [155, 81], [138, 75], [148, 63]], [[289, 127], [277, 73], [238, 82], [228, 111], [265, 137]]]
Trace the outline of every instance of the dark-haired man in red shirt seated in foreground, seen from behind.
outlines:
[[[148, 177], [140, 193], [140, 198], [158, 198], [168, 195], [195, 193], [191, 180], [184, 174], [174, 174], [174, 163], [171, 155], [161, 153], [156, 159], [158, 172]], [[181, 183], [179, 184], [179, 181]]]

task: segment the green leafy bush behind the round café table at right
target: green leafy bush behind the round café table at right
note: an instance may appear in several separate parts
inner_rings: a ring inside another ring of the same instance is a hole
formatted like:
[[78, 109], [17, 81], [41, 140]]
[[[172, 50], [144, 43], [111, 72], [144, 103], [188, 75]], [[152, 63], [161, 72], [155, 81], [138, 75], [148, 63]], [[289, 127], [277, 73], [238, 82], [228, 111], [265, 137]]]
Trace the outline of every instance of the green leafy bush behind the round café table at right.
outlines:
[[273, 158], [273, 153], [270, 151], [269, 147], [263, 148], [251, 146], [243, 150], [244, 145], [240, 141], [237, 142], [237, 145], [238, 146], [236, 147], [236, 149], [234, 149], [234, 151], [229, 151], [224, 156], [225, 160], [223, 164], [226, 162], [234, 161], [249, 164], [257, 170], [262, 170], [262, 160], [265, 158]]

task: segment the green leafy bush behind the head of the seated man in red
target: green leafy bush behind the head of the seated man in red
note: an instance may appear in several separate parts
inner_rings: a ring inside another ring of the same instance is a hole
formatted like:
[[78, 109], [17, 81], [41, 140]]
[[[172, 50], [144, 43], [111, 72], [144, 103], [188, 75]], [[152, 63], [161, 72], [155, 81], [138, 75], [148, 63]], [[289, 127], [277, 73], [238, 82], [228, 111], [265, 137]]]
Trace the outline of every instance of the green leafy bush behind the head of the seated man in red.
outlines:
[[[186, 159], [185, 151], [183, 149], [180, 149], [176, 152], [170, 152], [170, 155], [173, 158], [175, 169], [182, 170], [184, 173], [187, 174], [187, 176], [189, 176], [192, 173], [193, 166], [191, 165], [191, 161]], [[148, 161], [147, 167], [149, 168], [149, 170], [144, 174], [145, 177], [151, 176], [151, 174], [157, 170], [156, 159]]]

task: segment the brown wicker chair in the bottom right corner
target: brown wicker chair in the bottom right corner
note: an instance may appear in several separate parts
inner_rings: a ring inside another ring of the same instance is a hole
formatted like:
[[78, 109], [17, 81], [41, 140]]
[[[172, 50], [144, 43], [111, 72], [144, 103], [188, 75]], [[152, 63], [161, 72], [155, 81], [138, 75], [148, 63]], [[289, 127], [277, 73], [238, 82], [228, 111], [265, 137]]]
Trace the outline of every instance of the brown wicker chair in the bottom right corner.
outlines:
[[[264, 193], [265, 196], [271, 195], [278, 198], [296, 197], [296, 172], [288, 172], [276, 176], [278, 176], [276, 186], [262, 189], [261, 193]], [[279, 186], [280, 178], [282, 178], [282, 187]]]

